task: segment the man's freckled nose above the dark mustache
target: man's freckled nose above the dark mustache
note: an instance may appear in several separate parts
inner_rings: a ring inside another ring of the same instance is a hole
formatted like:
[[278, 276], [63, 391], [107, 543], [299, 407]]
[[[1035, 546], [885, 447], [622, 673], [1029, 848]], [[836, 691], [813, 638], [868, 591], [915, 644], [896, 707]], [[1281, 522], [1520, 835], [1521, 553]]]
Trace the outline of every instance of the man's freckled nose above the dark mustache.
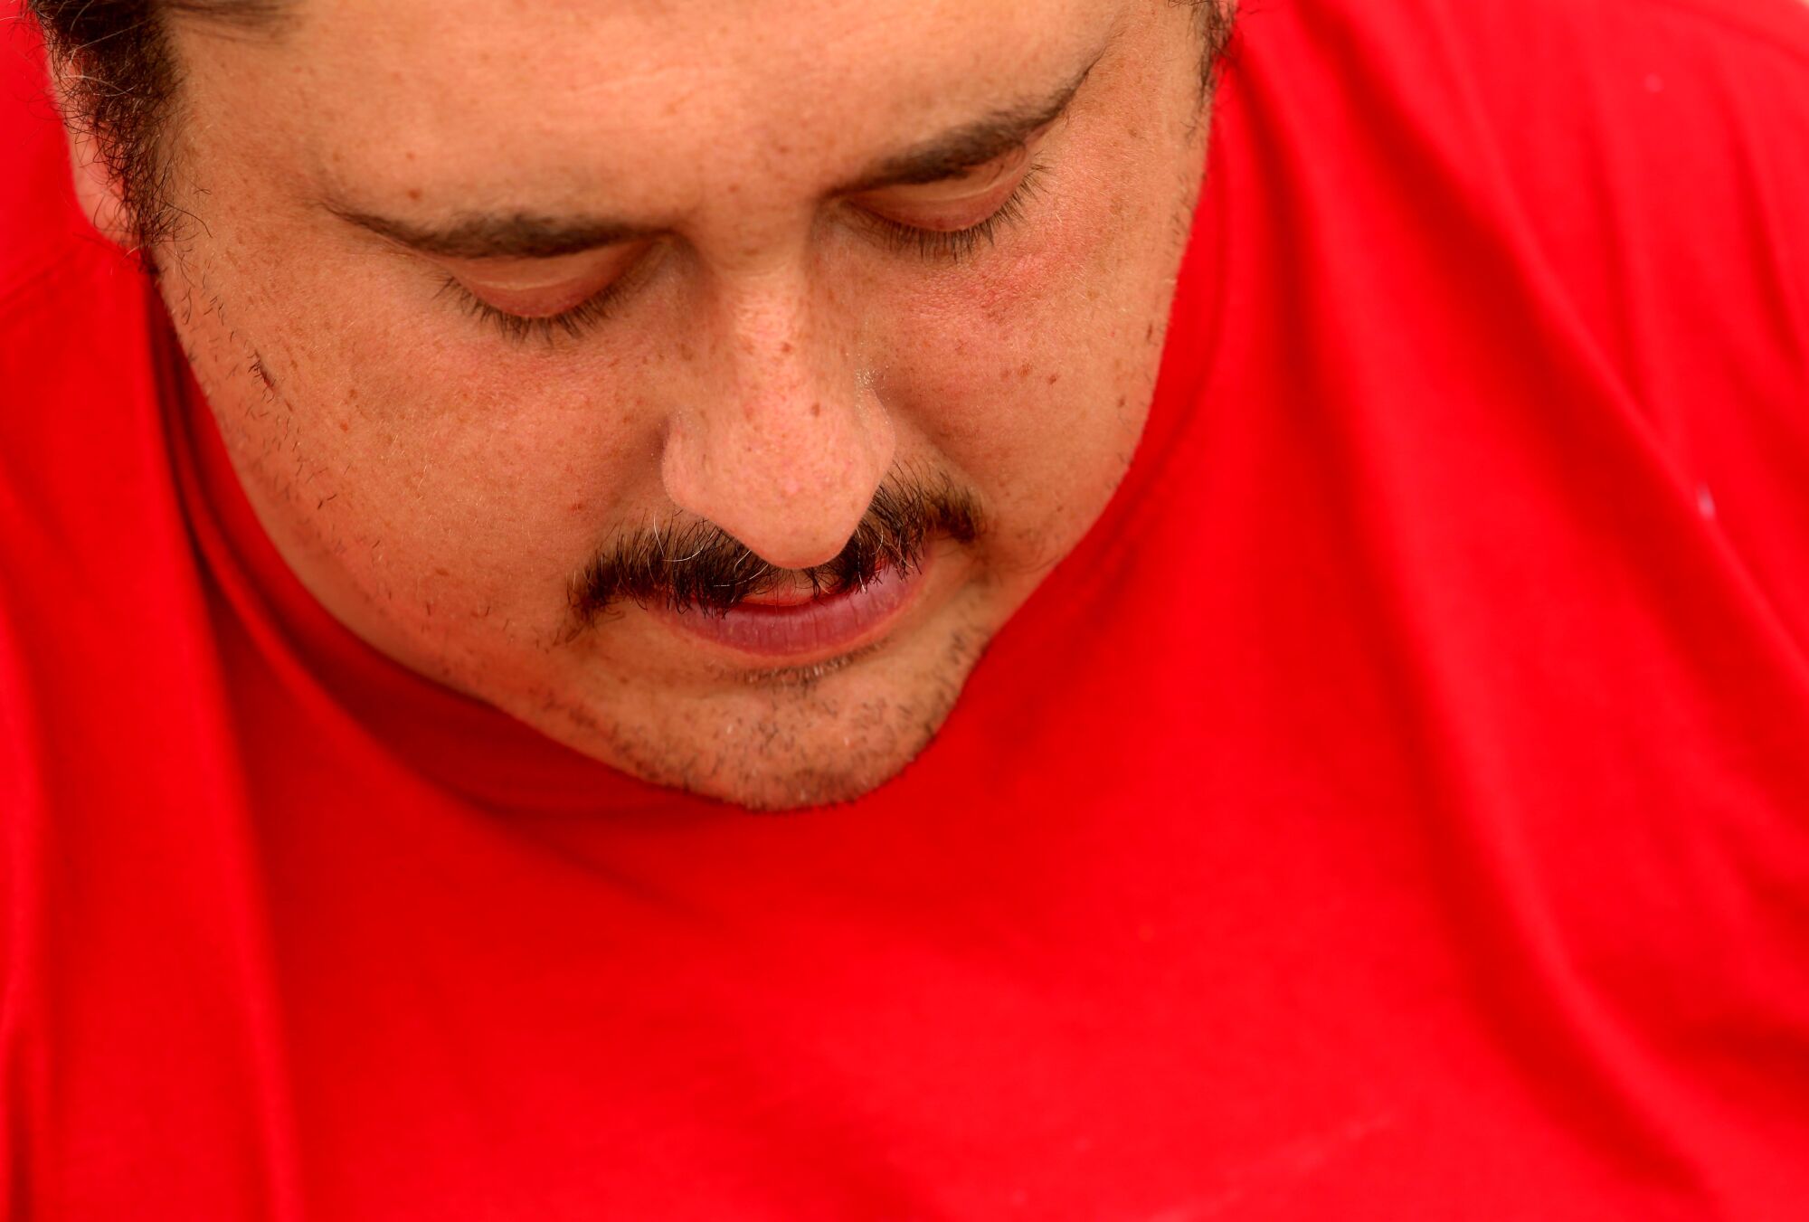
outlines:
[[696, 401], [669, 418], [666, 495], [769, 564], [825, 564], [895, 450], [857, 336], [803, 269], [718, 280], [711, 315]]

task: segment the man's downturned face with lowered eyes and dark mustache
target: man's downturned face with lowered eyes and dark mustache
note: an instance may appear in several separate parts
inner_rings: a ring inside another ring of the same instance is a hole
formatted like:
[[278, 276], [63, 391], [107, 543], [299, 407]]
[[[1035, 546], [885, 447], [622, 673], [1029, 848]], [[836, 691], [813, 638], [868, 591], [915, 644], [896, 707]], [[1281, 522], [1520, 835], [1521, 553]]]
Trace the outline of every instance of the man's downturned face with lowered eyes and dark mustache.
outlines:
[[266, 530], [597, 759], [874, 788], [1131, 461], [1201, 172], [1185, 5], [295, 0], [172, 40], [156, 257]]

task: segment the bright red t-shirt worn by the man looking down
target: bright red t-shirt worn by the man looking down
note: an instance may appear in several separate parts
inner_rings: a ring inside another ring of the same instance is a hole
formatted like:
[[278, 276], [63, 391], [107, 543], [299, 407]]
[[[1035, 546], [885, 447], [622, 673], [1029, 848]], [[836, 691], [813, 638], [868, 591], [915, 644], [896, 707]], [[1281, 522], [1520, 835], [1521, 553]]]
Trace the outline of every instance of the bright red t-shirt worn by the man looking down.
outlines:
[[9, 1217], [1809, 1217], [1809, 5], [1245, 7], [1132, 477], [778, 817], [306, 595], [11, 25]]

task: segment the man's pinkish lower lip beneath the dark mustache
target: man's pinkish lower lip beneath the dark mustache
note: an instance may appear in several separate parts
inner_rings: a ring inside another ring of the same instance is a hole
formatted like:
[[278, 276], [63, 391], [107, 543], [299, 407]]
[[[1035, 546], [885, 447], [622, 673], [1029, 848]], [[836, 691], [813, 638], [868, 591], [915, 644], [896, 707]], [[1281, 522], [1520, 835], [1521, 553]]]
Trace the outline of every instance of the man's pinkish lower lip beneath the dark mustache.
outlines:
[[791, 606], [742, 604], [727, 615], [662, 611], [660, 616], [693, 636], [763, 658], [803, 658], [847, 653], [877, 636], [912, 600], [923, 569], [901, 573], [886, 566], [865, 586]]

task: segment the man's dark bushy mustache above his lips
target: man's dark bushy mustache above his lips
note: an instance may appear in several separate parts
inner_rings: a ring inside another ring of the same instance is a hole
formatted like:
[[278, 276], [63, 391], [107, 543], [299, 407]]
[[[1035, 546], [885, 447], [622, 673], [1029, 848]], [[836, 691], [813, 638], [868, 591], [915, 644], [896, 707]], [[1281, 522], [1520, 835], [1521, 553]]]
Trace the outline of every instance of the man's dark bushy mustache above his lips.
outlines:
[[751, 597], [794, 588], [800, 577], [830, 595], [865, 586], [888, 564], [906, 573], [923, 564], [935, 539], [971, 544], [982, 533], [971, 492], [948, 479], [888, 481], [827, 564], [774, 568], [715, 522], [696, 519], [624, 535], [579, 569], [566, 593], [577, 629], [628, 602], [727, 615]]

